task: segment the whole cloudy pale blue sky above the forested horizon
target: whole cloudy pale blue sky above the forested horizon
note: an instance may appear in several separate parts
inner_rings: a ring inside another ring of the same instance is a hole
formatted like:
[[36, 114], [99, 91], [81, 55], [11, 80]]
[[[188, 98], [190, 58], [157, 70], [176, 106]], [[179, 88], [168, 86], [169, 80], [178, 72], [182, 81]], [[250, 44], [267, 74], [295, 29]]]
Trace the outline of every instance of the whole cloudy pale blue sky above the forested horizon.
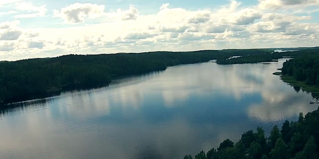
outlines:
[[0, 0], [0, 61], [319, 45], [319, 0]]

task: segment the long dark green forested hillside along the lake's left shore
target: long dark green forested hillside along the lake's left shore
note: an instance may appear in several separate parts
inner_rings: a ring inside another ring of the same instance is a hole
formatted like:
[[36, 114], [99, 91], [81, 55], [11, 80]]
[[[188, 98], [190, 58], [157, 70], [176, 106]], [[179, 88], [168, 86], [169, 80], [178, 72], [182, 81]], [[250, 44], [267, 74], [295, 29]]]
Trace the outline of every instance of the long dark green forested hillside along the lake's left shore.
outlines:
[[32, 99], [74, 87], [106, 85], [119, 76], [217, 59], [218, 51], [68, 55], [0, 62], [0, 101]]

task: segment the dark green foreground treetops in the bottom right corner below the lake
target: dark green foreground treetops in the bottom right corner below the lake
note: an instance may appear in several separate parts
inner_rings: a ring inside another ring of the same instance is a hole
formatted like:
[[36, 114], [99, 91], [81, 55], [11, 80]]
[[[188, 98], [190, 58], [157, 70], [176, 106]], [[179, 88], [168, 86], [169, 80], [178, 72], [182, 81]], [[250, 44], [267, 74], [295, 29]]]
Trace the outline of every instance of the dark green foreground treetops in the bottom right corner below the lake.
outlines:
[[[270, 136], [258, 127], [257, 131], [249, 130], [241, 135], [234, 144], [229, 139], [212, 148], [195, 155], [196, 159], [230, 159], [230, 158], [280, 158], [280, 159], [317, 159], [319, 152], [319, 108], [303, 117], [299, 115], [297, 122], [286, 121], [281, 130], [274, 126]], [[184, 159], [193, 158], [185, 155]]]

